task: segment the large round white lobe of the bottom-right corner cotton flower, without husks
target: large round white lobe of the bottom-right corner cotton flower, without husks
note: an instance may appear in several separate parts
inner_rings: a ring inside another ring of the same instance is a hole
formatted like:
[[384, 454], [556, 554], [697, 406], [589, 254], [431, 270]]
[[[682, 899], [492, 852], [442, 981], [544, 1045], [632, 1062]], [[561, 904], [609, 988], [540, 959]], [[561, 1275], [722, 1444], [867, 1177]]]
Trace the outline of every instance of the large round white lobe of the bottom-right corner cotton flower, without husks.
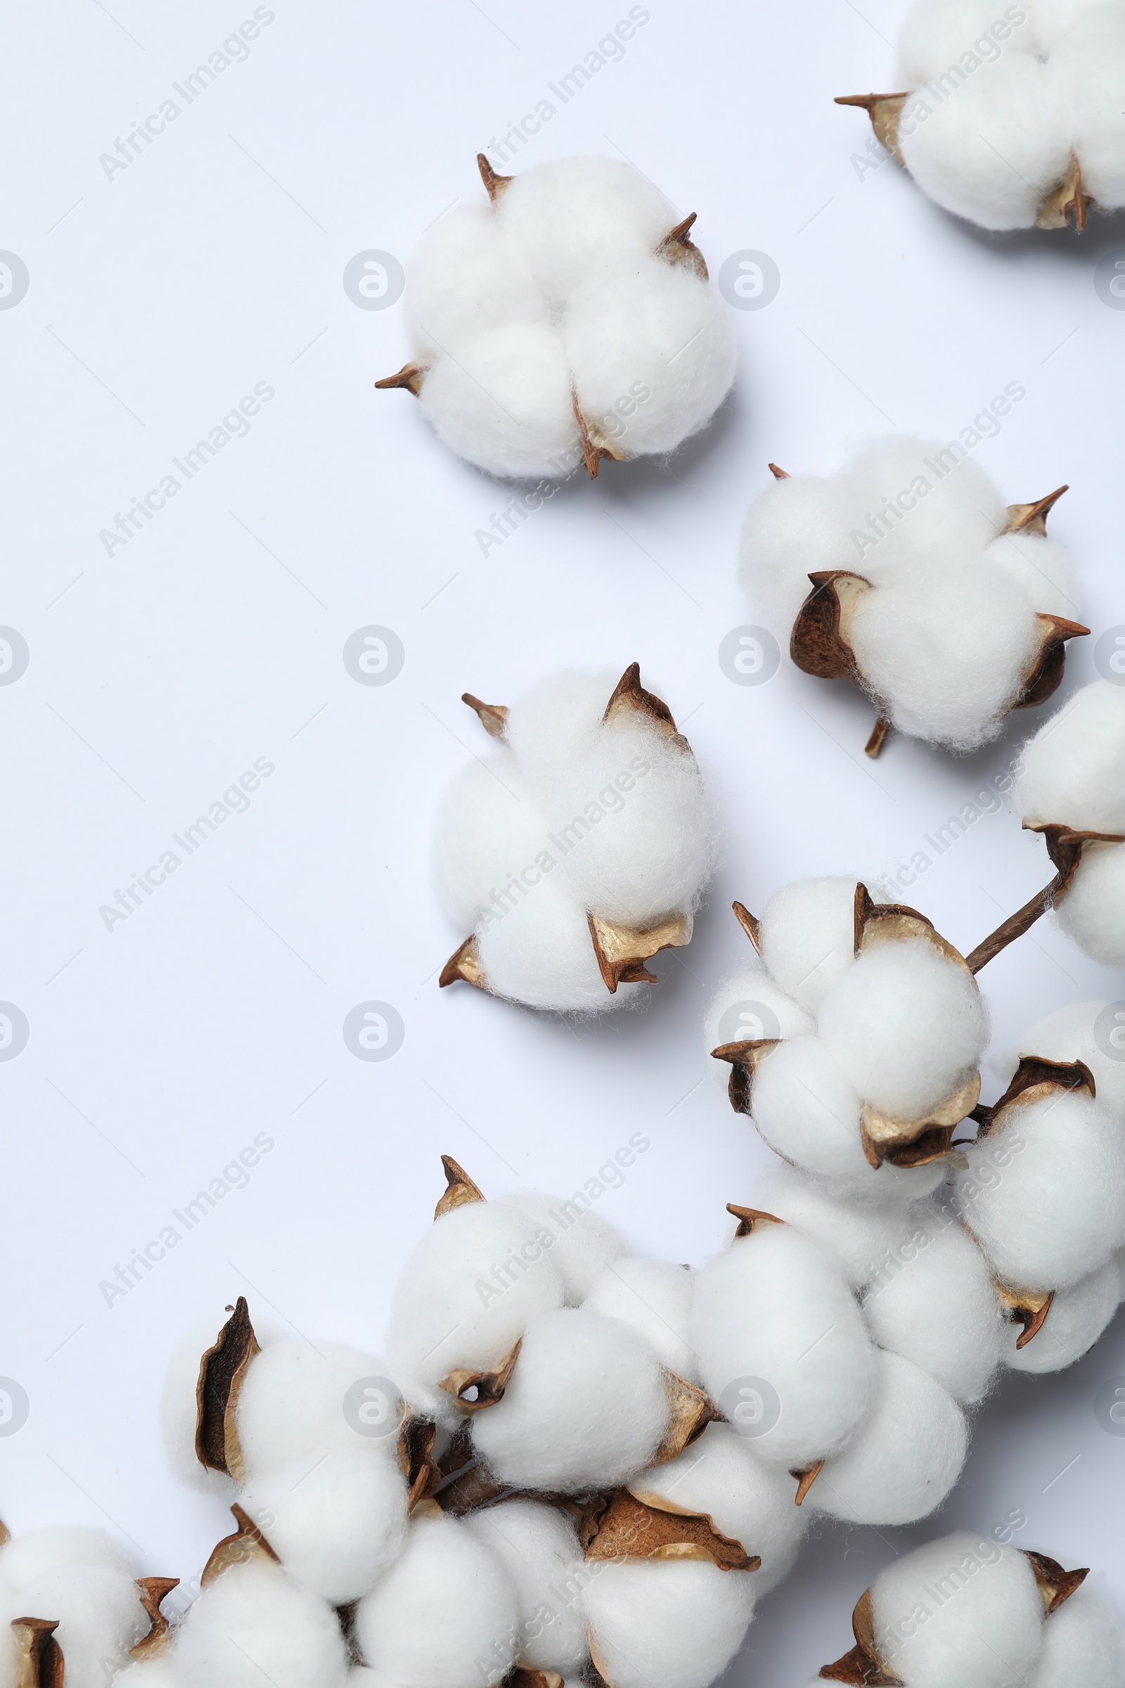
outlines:
[[1042, 1646], [1029, 1560], [970, 1531], [928, 1541], [880, 1572], [872, 1617], [884, 1663], [911, 1688], [1024, 1688]]

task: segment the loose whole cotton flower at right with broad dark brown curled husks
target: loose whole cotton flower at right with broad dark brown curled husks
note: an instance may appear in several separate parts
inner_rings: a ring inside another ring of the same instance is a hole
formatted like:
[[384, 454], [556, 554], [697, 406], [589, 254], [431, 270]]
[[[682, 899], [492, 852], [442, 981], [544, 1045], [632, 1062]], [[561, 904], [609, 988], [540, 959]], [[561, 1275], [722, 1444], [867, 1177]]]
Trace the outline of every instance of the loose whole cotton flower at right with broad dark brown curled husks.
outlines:
[[742, 579], [805, 674], [870, 695], [869, 755], [891, 726], [973, 749], [1058, 687], [1064, 641], [1090, 631], [1046, 533], [1064, 486], [1005, 506], [961, 442], [897, 437], [840, 474], [774, 476], [746, 517]]

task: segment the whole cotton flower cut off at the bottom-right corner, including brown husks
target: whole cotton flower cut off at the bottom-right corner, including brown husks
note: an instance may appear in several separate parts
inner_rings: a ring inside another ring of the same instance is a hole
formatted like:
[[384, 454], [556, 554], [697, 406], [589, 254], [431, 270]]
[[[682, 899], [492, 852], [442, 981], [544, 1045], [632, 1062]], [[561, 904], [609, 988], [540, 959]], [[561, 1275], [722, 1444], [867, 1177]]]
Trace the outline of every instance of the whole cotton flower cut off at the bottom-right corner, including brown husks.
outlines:
[[867, 1588], [855, 1646], [808, 1688], [1120, 1688], [1125, 1634], [1088, 1575], [972, 1531], [928, 1541]]

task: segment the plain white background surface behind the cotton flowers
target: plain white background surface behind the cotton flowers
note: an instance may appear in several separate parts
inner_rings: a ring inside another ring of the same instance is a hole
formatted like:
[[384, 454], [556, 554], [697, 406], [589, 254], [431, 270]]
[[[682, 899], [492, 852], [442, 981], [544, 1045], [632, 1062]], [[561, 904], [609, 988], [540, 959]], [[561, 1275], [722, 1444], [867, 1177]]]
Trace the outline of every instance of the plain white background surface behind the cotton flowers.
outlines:
[[[0, 1372], [30, 1398], [0, 1438], [0, 1511], [13, 1531], [106, 1524], [138, 1572], [186, 1582], [229, 1524], [221, 1497], [172, 1477], [157, 1430], [182, 1332], [245, 1293], [263, 1320], [378, 1345], [440, 1151], [486, 1192], [570, 1192], [643, 1129], [649, 1153], [599, 1210], [638, 1251], [703, 1261], [771, 1160], [705, 1072], [703, 1009], [746, 959], [730, 898], [761, 908], [794, 876], [909, 859], [1041, 717], [965, 761], [892, 739], [872, 765], [870, 711], [847, 689], [788, 658], [766, 685], [732, 684], [717, 648], [754, 619], [735, 542], [767, 459], [828, 471], [889, 429], [945, 441], [1020, 383], [977, 459], [1014, 501], [1071, 483], [1051, 530], [1083, 616], [1095, 635], [1125, 621], [1125, 314], [1093, 287], [1125, 231], [990, 238], [892, 162], [860, 174], [867, 120], [832, 96], [894, 86], [899, 0], [653, 0], [624, 59], [526, 145], [528, 165], [631, 159], [698, 211], [712, 273], [754, 248], [783, 284], [732, 312], [737, 387], [702, 439], [668, 466], [575, 479], [487, 559], [474, 535], [508, 490], [449, 456], [408, 395], [373, 392], [408, 356], [401, 304], [358, 309], [342, 270], [364, 248], [405, 258], [476, 203], [477, 149], [627, 5], [275, 0], [246, 62], [106, 179], [100, 155], [251, 10], [8, 5], [0, 98], [0, 246], [30, 272], [0, 312], [0, 621], [30, 647], [0, 689], [0, 998], [30, 1023], [0, 1063]], [[108, 557], [100, 530], [256, 381], [275, 398], [248, 437]], [[405, 645], [390, 685], [342, 665], [366, 623]], [[1066, 689], [1093, 677], [1091, 647], [1071, 647]], [[460, 692], [504, 702], [552, 668], [634, 658], [722, 817], [690, 950], [658, 959], [646, 1013], [604, 1025], [439, 993], [464, 933], [430, 891], [432, 815], [487, 743]], [[100, 906], [255, 758], [275, 773], [250, 810], [108, 932]], [[1000, 812], [909, 900], [968, 950], [1047, 876]], [[983, 977], [1000, 1040], [1122, 991], [1046, 922]], [[383, 1063], [341, 1035], [371, 998], [406, 1026]], [[275, 1148], [250, 1185], [106, 1307], [101, 1280], [256, 1133]], [[852, 1604], [894, 1553], [1012, 1511], [1017, 1545], [1103, 1568], [1125, 1607], [1125, 1440], [1093, 1415], [1122, 1372], [1118, 1320], [1069, 1372], [1012, 1377], [945, 1512], [823, 1526], [730, 1680], [805, 1681], [847, 1649]]]

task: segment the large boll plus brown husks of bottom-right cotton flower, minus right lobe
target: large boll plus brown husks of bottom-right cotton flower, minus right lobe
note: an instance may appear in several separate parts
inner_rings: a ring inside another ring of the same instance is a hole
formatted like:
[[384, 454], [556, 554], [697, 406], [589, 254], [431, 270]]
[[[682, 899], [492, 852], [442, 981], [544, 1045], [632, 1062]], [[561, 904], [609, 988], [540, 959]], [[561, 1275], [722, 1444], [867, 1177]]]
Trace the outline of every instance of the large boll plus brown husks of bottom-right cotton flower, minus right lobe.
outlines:
[[820, 1676], [885, 1688], [1019, 1688], [1034, 1680], [1044, 1626], [1085, 1577], [970, 1531], [929, 1541], [857, 1600], [855, 1646]]

